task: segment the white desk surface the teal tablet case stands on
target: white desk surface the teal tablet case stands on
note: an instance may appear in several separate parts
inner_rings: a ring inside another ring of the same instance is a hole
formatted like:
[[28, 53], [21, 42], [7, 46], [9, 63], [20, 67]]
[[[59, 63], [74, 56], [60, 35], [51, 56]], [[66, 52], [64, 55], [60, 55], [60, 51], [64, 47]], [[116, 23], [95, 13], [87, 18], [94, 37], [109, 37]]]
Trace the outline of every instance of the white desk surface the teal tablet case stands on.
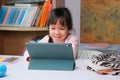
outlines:
[[87, 59], [77, 59], [74, 71], [28, 70], [23, 57], [13, 64], [5, 63], [7, 74], [0, 80], [119, 80], [120, 76], [99, 75], [86, 69]]

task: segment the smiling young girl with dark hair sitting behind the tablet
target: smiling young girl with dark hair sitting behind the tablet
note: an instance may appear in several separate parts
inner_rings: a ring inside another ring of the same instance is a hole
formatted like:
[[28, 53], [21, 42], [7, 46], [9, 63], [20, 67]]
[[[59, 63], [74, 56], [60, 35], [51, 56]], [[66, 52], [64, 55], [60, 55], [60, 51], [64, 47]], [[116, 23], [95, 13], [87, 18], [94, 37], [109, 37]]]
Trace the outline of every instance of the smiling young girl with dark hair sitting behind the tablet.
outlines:
[[49, 35], [43, 37], [38, 43], [71, 43], [73, 55], [76, 59], [78, 56], [79, 41], [75, 35], [70, 33], [73, 29], [70, 11], [67, 8], [55, 8], [51, 10], [46, 26], [49, 29]]

